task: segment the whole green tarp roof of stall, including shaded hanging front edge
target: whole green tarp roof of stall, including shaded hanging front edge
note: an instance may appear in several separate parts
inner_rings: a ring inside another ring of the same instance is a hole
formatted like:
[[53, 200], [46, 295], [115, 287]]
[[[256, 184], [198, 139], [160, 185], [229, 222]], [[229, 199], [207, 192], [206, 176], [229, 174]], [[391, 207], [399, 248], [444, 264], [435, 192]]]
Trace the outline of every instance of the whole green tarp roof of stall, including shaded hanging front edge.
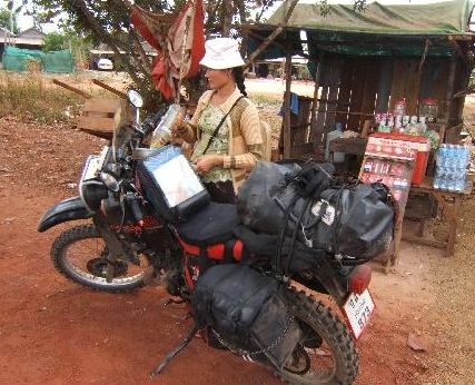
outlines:
[[[291, 45], [301, 53], [300, 30], [307, 33], [310, 57], [320, 52], [348, 56], [451, 57], [457, 55], [447, 36], [474, 37], [468, 22], [473, 0], [453, 0], [428, 4], [367, 4], [356, 11], [353, 6], [329, 4], [329, 13], [320, 14], [319, 4], [297, 3], [285, 29], [258, 59], [284, 57], [283, 47]], [[247, 47], [253, 52], [287, 13], [288, 2], [281, 4], [268, 22], [249, 26]], [[429, 40], [427, 51], [426, 45]]]

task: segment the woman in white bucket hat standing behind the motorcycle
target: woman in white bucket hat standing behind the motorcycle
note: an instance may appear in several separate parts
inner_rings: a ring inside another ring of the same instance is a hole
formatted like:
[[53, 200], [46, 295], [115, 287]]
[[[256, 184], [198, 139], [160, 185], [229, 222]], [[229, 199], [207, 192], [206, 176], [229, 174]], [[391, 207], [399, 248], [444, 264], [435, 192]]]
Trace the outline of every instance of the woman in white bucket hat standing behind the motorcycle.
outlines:
[[234, 204], [237, 189], [263, 156], [259, 116], [256, 106], [244, 98], [245, 62], [237, 41], [218, 38], [208, 40], [205, 48], [200, 65], [210, 90], [177, 135], [194, 145], [191, 161], [211, 200]]

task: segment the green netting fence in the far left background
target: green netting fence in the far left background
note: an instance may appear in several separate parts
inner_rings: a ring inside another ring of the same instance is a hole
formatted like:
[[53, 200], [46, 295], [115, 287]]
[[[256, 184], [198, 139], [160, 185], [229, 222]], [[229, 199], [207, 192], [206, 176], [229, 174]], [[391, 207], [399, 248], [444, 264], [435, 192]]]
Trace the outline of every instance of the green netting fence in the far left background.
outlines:
[[30, 60], [40, 62], [44, 72], [71, 73], [75, 68], [72, 55], [69, 50], [43, 52], [7, 47], [3, 52], [3, 69], [9, 71], [26, 71]]

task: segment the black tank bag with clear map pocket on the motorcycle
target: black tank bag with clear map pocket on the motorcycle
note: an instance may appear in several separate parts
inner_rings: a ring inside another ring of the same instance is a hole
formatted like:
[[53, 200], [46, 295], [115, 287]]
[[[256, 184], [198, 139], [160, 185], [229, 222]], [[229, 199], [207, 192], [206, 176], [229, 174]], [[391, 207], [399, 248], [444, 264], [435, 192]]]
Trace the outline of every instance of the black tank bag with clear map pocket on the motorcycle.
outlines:
[[189, 161], [178, 147], [165, 146], [139, 161], [144, 195], [157, 214], [171, 223], [185, 220], [210, 203]]

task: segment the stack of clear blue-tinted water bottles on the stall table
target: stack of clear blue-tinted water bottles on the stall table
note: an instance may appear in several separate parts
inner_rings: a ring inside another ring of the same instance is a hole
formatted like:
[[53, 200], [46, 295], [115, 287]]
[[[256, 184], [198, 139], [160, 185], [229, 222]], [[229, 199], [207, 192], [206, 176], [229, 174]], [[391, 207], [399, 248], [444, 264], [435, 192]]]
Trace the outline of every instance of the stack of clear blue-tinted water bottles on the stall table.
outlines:
[[461, 192], [465, 189], [469, 149], [443, 144], [437, 150], [434, 188]]

